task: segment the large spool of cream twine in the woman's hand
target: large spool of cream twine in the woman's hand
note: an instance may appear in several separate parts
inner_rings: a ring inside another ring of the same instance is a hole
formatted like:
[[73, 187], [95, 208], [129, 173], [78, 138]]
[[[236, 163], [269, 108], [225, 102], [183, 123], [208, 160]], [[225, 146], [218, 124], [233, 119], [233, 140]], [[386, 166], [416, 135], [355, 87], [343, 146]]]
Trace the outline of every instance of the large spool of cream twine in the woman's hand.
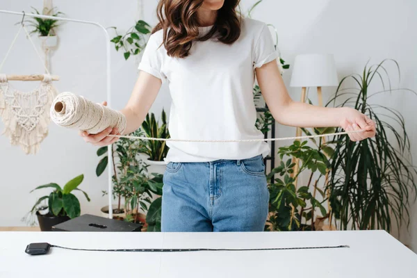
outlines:
[[126, 117], [119, 111], [96, 104], [71, 92], [58, 95], [51, 105], [51, 120], [69, 129], [97, 134], [108, 127], [126, 129]]

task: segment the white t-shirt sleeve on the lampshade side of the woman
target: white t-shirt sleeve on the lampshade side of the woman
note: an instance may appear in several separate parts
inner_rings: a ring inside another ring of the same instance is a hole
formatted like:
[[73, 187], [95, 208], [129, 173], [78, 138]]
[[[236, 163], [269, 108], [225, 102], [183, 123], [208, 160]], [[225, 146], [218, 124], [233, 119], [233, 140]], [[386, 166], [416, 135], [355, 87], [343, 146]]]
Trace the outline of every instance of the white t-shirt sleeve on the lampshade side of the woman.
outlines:
[[256, 67], [262, 67], [278, 58], [278, 52], [275, 50], [272, 35], [266, 24], [263, 24], [261, 34], [255, 42], [254, 51], [254, 69], [256, 69]]

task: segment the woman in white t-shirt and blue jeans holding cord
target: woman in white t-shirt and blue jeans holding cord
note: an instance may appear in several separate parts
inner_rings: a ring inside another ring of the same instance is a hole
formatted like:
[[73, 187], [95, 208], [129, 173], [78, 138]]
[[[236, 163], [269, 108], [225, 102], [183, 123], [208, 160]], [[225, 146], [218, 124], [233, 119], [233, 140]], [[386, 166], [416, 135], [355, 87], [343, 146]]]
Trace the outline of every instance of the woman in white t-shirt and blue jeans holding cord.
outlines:
[[[122, 110], [131, 133], [140, 127], [162, 82], [170, 87], [172, 138], [263, 138], [255, 127], [254, 78], [275, 120], [288, 126], [341, 126], [352, 140], [375, 135], [375, 124], [351, 108], [293, 101], [277, 66], [268, 27], [236, 13], [239, 0], [161, 0], [159, 24]], [[115, 142], [110, 126], [86, 142]], [[164, 174], [162, 231], [263, 231], [269, 193], [265, 142], [169, 142]]]

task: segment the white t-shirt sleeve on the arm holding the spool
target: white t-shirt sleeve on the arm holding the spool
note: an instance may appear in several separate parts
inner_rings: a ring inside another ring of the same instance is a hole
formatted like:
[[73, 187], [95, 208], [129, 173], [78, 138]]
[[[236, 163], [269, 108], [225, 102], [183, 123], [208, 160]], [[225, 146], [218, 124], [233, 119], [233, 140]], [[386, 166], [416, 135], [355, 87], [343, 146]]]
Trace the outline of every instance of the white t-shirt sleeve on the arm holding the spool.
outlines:
[[157, 39], [158, 33], [154, 33], [149, 37], [145, 51], [143, 51], [142, 60], [140, 60], [138, 69], [142, 70], [143, 72], [147, 72], [148, 74], [152, 74], [158, 79], [165, 79], [164, 74], [161, 72], [161, 42], [158, 42]]

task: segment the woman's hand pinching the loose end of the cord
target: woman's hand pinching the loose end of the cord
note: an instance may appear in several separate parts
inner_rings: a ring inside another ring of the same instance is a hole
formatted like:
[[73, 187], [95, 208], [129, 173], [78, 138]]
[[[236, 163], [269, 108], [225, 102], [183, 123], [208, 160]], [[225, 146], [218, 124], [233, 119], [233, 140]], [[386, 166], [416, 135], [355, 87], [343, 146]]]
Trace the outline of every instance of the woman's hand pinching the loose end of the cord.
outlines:
[[353, 108], [341, 109], [343, 109], [343, 120], [341, 120], [340, 126], [345, 129], [345, 131], [359, 131], [361, 129], [364, 130], [363, 132], [350, 133], [350, 140], [360, 141], [375, 136], [375, 122], [370, 120], [368, 116]]

